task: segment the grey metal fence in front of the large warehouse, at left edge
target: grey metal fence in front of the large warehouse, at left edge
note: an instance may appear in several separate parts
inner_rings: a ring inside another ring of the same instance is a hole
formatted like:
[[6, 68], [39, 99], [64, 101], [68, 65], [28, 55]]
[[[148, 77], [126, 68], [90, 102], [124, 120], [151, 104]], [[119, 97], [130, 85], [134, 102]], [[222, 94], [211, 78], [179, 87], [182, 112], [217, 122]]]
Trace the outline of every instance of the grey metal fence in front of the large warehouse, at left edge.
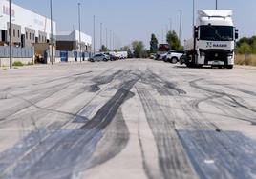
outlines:
[[[32, 58], [33, 48], [11, 48], [11, 53], [13, 58]], [[2, 46], [0, 47], [0, 58], [9, 58], [10, 47]]]

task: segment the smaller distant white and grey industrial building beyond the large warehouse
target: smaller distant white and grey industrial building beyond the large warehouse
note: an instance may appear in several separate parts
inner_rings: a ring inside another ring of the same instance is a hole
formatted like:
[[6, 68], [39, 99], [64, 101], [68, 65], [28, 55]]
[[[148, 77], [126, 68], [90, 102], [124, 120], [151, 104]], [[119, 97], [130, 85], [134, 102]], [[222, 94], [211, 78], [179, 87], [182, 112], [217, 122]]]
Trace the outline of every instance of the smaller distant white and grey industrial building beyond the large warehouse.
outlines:
[[[80, 35], [81, 43], [79, 38]], [[56, 50], [80, 50], [80, 46], [82, 51], [90, 51], [92, 47], [92, 37], [84, 32], [79, 32], [78, 30], [57, 32]]]

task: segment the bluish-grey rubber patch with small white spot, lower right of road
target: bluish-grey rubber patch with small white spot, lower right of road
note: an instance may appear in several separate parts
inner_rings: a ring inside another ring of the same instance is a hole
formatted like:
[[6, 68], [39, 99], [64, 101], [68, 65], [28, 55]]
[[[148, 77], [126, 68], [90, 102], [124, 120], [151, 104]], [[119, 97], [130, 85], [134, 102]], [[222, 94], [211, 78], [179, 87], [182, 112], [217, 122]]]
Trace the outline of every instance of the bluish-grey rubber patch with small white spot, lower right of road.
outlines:
[[201, 178], [255, 177], [256, 142], [241, 133], [181, 130], [179, 135]]

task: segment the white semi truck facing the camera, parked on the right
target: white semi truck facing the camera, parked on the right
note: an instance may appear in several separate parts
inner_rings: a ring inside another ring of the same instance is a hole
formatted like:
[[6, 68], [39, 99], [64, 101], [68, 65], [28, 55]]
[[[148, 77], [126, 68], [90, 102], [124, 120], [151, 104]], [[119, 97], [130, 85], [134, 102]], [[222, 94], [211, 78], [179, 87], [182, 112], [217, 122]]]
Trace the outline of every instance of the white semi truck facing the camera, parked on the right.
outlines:
[[187, 67], [234, 66], [235, 40], [238, 30], [232, 20], [232, 10], [199, 10], [194, 37], [184, 43], [184, 63]]

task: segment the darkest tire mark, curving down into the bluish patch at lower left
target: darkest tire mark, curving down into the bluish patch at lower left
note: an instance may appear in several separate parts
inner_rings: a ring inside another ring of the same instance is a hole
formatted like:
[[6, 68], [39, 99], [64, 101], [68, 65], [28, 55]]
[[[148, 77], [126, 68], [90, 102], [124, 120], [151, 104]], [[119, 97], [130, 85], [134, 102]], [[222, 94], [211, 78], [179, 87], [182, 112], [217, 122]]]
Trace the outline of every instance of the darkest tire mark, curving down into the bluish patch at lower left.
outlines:
[[[9, 164], [2, 165], [2, 176], [26, 179], [67, 177], [71, 173], [86, 169], [96, 144], [102, 138], [103, 129], [112, 122], [117, 109], [138, 80], [139, 78], [134, 78], [123, 82], [122, 88], [117, 90], [117, 93], [97, 111], [95, 117], [82, 128], [71, 131], [58, 130], [55, 135], [40, 141], [37, 146], [32, 145], [34, 149], [18, 161], [12, 172], [6, 173]], [[13, 152], [12, 154], [15, 154], [16, 150]], [[3, 154], [2, 157], [0, 161], [9, 161], [6, 157], [10, 155]]]

